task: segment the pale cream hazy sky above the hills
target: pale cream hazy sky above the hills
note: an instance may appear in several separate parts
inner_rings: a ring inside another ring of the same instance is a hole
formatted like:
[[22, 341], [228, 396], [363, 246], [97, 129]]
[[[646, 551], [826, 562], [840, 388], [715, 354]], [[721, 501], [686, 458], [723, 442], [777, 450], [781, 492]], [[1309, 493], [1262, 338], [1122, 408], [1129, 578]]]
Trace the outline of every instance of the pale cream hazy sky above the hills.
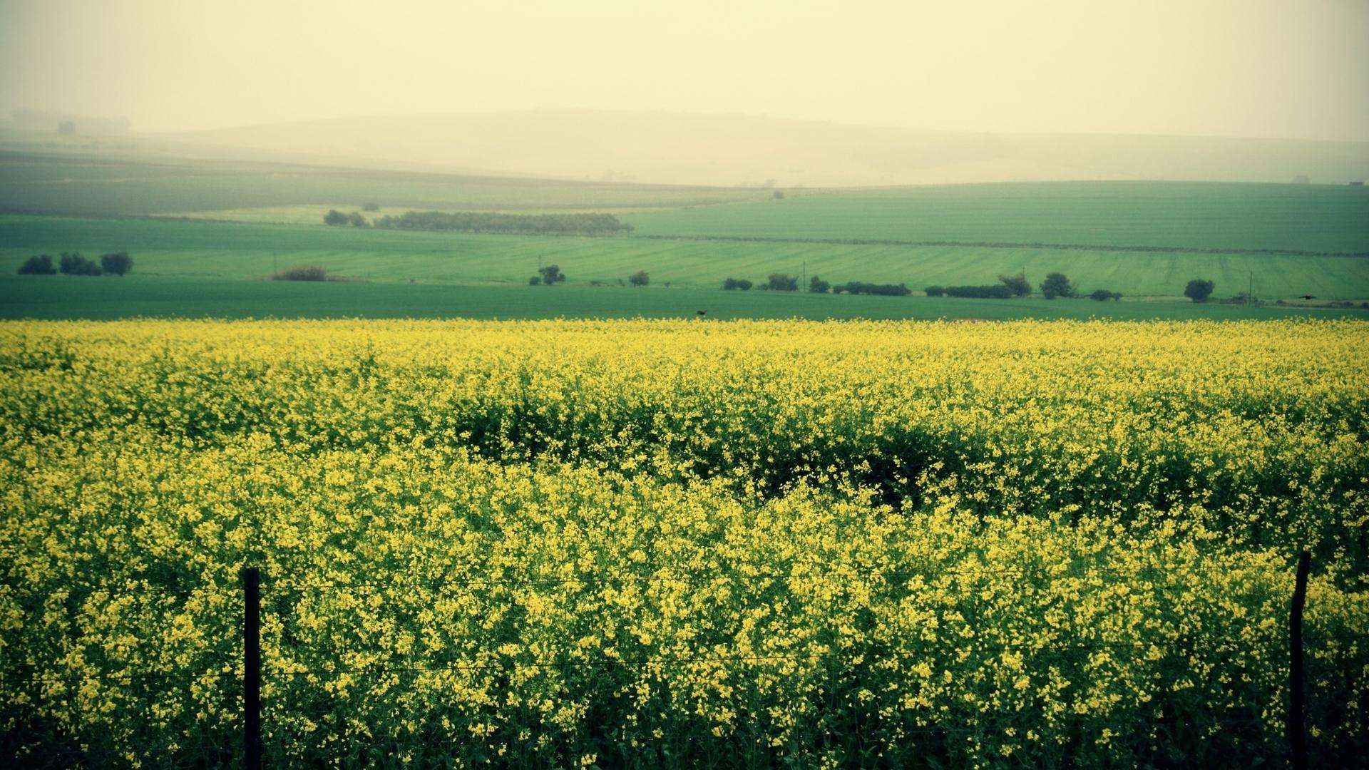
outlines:
[[1369, 141], [1369, 0], [0, 0], [0, 110], [587, 107]]

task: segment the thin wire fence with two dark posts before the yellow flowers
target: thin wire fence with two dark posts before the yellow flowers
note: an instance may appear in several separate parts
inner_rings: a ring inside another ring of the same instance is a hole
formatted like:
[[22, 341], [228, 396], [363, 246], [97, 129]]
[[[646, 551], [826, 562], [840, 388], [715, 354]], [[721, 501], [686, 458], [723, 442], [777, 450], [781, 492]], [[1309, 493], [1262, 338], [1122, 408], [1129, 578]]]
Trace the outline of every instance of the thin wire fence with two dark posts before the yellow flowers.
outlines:
[[[1302, 689], [1301, 677], [1302, 674], [1302, 619], [1301, 619], [1301, 604], [1299, 596], [1305, 595], [1306, 589], [1306, 555], [1302, 555], [1299, 570], [1296, 573], [1295, 585], [1292, 588], [1294, 604], [1298, 607], [1295, 612], [1296, 617], [1290, 618], [1290, 637], [1268, 637], [1269, 649], [1266, 652], [1276, 652], [1288, 644], [1288, 654], [1291, 655], [1291, 669], [1292, 681], [1290, 681], [1290, 692], [1299, 693]], [[586, 670], [586, 669], [630, 669], [634, 671], [650, 671], [650, 670], [664, 670], [674, 667], [708, 667], [708, 666], [726, 666], [726, 667], [742, 667], [742, 666], [783, 666], [783, 665], [808, 665], [820, 666], [826, 665], [831, 669], [835, 665], [843, 667], [858, 667], [864, 665], [876, 665], [880, 662], [904, 662], [924, 659], [928, 655], [935, 654], [962, 654], [973, 652], [980, 655], [987, 654], [1060, 654], [1066, 655], [1071, 652], [1142, 652], [1153, 654], [1160, 649], [1164, 654], [1179, 654], [1179, 655], [1194, 655], [1205, 641], [1203, 638], [1195, 637], [1192, 634], [1173, 634], [1170, 638], [1147, 638], [1147, 640], [1118, 640], [1118, 638], [1083, 638], [1080, 636], [1069, 637], [1066, 632], [1062, 632], [1058, 638], [1049, 640], [1021, 640], [1021, 641], [1002, 641], [995, 640], [987, 643], [975, 636], [954, 636], [951, 638], [942, 638], [934, 636], [932, 638], [917, 638], [906, 637], [897, 640], [897, 648], [894, 649], [879, 649], [869, 647], [869, 640], [862, 641], [862, 645], [843, 647], [842, 643], [846, 641], [838, 636], [824, 638], [820, 643], [820, 649], [802, 649], [802, 651], [752, 651], [746, 654], [724, 654], [719, 652], [717, 645], [712, 649], [695, 649], [695, 651], [675, 651], [665, 655], [645, 655], [645, 656], [620, 656], [609, 655], [600, 651], [597, 655], [591, 655], [585, 651], [563, 651], [564, 658], [546, 660], [546, 659], [517, 659], [511, 655], [500, 655], [496, 652], [486, 651], [485, 654], [475, 652], [474, 655], [463, 659], [444, 659], [435, 660], [430, 658], [404, 658], [392, 659], [389, 662], [382, 662], [376, 665], [367, 666], [345, 666], [341, 663], [327, 663], [323, 666], [298, 663], [289, 665], [282, 663], [287, 658], [286, 652], [300, 652], [298, 649], [277, 649], [277, 655], [267, 655], [271, 665], [263, 665], [261, 662], [261, 634], [260, 634], [260, 612], [261, 612], [261, 593], [268, 597], [298, 597], [304, 593], [316, 592], [333, 592], [333, 593], [393, 593], [393, 592], [408, 592], [427, 591], [434, 595], [442, 595], [446, 592], [468, 593], [468, 595], [489, 595], [494, 589], [605, 589], [605, 588], [624, 588], [624, 586], [671, 586], [678, 589], [700, 589], [706, 586], [716, 586], [719, 584], [741, 584], [747, 586], [754, 586], [760, 589], [775, 588], [782, 584], [791, 584], [793, 581], [824, 581], [826, 584], [846, 584], [846, 585], [883, 585], [888, 588], [902, 586], [902, 588], [919, 588], [936, 581], [943, 581], [946, 578], [972, 578], [972, 580], [1023, 580], [1028, 577], [1038, 577], [1046, 580], [1108, 580], [1108, 581], [1139, 581], [1154, 584], [1157, 589], [1168, 589], [1181, 585], [1184, 580], [1201, 580], [1203, 575], [1212, 575], [1221, 571], [1224, 567], [1220, 563], [1210, 563], [1202, 566], [1192, 564], [1143, 564], [1134, 569], [1117, 569], [1101, 564], [1075, 564], [1071, 569], [1045, 569], [1045, 567], [1031, 567], [1031, 566], [1014, 566], [1014, 567], [1001, 567], [1001, 566], [969, 566], [958, 569], [876, 569], [876, 567], [852, 567], [845, 566], [843, 569], [820, 567], [817, 564], [794, 564], [789, 569], [776, 569], [773, 564], [765, 564], [764, 567], [754, 564], [730, 564], [723, 569], [709, 569], [709, 570], [693, 570], [693, 571], [671, 571], [671, 570], [652, 570], [646, 571], [643, 569], [631, 570], [600, 570], [594, 573], [575, 573], [575, 574], [537, 574], [537, 575], [508, 575], [502, 571], [494, 570], [475, 570], [475, 564], [463, 564], [468, 567], [464, 574], [453, 574], [455, 567], [448, 567], [437, 575], [424, 574], [392, 574], [386, 577], [368, 577], [361, 580], [329, 580], [324, 577], [304, 577], [301, 580], [263, 580], [261, 574], [255, 569], [246, 569], [242, 573], [242, 582], [230, 584], [227, 581], [205, 581], [194, 585], [186, 585], [177, 581], [157, 581], [149, 577], [129, 578], [122, 582], [75, 582], [68, 586], [47, 588], [44, 591], [23, 591], [14, 585], [0, 585], [0, 597], [15, 599], [21, 601], [52, 601], [52, 600], [89, 600], [93, 596], [105, 597], [131, 597], [131, 596], [152, 596], [152, 597], [189, 597], [194, 595], [242, 595], [242, 618], [244, 618], [244, 637], [242, 637], [242, 658], [235, 660], [222, 660], [222, 670], [207, 671], [200, 674], [175, 674], [174, 678], [182, 682], [222, 682], [225, 688], [231, 686], [234, 682], [241, 682], [244, 688], [244, 745], [246, 765], [249, 767], [260, 766], [260, 752], [261, 752], [261, 703], [260, 692], [263, 681], [293, 681], [300, 677], [402, 677], [402, 675], [441, 675], [441, 674], [486, 674], [486, 673], [513, 673], [513, 671], [572, 671], [572, 670]], [[160, 582], [160, 585], [159, 585]], [[1268, 593], [1268, 584], [1262, 584], [1261, 591]], [[1284, 593], [1287, 596], [1287, 593]], [[504, 597], [500, 597], [504, 599]], [[909, 629], [912, 633], [917, 633], [919, 629]], [[925, 632], [923, 632], [925, 633]], [[812, 641], [812, 640], [810, 640]], [[886, 640], [887, 641], [887, 640]], [[1206, 640], [1212, 641], [1212, 640]], [[1327, 641], [1327, 638], [1322, 638]], [[1353, 638], [1344, 638], [1342, 641], [1355, 641]], [[471, 651], [467, 651], [468, 654]], [[27, 678], [33, 681], [48, 681], [48, 682], [85, 682], [85, 681], [111, 681], [111, 682], [148, 682], [156, 685], [167, 685], [167, 680], [171, 674], [167, 673], [148, 673], [148, 671], [33, 671]], [[1294, 697], [1294, 703], [1290, 707], [1290, 714], [1287, 715], [1290, 744], [1294, 747], [1292, 751], [1296, 754], [1299, 751], [1301, 732], [1303, 730], [1305, 717], [1301, 714], [1303, 708], [1302, 703], [1298, 701], [1298, 696]], [[1294, 714], [1294, 711], [1298, 711]], [[1259, 715], [1246, 715], [1246, 717], [1229, 717], [1229, 715], [1210, 715], [1210, 718], [1203, 718], [1201, 726], [1247, 726], [1258, 728], [1262, 732], [1268, 732], [1272, 728], [1270, 719], [1268, 717]], [[935, 734], [983, 734], [984, 728], [980, 726], [962, 726], [962, 725], [913, 725], [908, 726], [910, 730], [925, 730]], [[1117, 723], [1090, 723], [1092, 730], [1112, 729], [1116, 732], [1121, 730], [1147, 730], [1154, 733], [1155, 730], [1170, 730], [1175, 729], [1173, 725], [1165, 725], [1154, 719], [1144, 721], [1125, 721]], [[215, 747], [214, 751], [222, 747]], [[1305, 747], [1301, 749], [1305, 755]], [[1298, 765], [1296, 756], [1294, 763]]]

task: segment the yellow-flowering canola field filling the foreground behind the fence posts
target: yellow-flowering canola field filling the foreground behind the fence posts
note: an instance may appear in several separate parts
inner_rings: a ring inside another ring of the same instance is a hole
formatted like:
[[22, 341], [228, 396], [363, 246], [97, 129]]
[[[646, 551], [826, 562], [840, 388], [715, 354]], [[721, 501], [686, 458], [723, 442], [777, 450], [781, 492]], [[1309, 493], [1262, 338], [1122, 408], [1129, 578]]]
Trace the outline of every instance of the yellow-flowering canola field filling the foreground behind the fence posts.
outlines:
[[0, 325], [25, 762], [1221, 765], [1369, 747], [1357, 322]]

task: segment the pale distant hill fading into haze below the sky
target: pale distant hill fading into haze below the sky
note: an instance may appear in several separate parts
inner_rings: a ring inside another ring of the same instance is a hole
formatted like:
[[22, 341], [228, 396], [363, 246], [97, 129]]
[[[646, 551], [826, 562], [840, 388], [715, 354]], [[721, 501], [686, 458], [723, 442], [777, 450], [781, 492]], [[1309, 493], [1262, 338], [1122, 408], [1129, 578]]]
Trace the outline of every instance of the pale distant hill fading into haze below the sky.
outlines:
[[376, 115], [166, 134], [175, 142], [408, 167], [782, 188], [1060, 179], [1344, 184], [1369, 142], [986, 134], [756, 115], [526, 111]]

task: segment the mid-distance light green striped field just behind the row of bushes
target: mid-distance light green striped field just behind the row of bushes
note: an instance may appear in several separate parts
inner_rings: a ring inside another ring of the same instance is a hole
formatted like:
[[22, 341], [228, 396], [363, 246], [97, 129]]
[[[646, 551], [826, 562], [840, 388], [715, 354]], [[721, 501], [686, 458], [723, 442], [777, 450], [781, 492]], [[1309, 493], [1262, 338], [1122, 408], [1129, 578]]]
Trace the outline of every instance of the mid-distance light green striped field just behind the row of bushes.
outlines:
[[371, 281], [524, 284], [539, 263], [556, 263], [574, 284], [617, 284], [646, 270], [657, 285], [716, 288], [727, 277], [760, 281], [769, 273], [806, 271], [834, 282], [906, 282], [921, 289], [991, 284], [1019, 270], [1039, 282], [1046, 273], [1064, 270], [1086, 292], [1106, 288], [1132, 297], [1177, 297], [1197, 277], [1216, 281], [1218, 297], [1244, 292], [1251, 277], [1259, 297], [1369, 297], [1364, 258], [524, 237], [0, 215], [3, 273], [12, 274], [33, 253], [115, 249], [134, 255], [138, 274], [251, 280], [292, 264], [323, 264]]

